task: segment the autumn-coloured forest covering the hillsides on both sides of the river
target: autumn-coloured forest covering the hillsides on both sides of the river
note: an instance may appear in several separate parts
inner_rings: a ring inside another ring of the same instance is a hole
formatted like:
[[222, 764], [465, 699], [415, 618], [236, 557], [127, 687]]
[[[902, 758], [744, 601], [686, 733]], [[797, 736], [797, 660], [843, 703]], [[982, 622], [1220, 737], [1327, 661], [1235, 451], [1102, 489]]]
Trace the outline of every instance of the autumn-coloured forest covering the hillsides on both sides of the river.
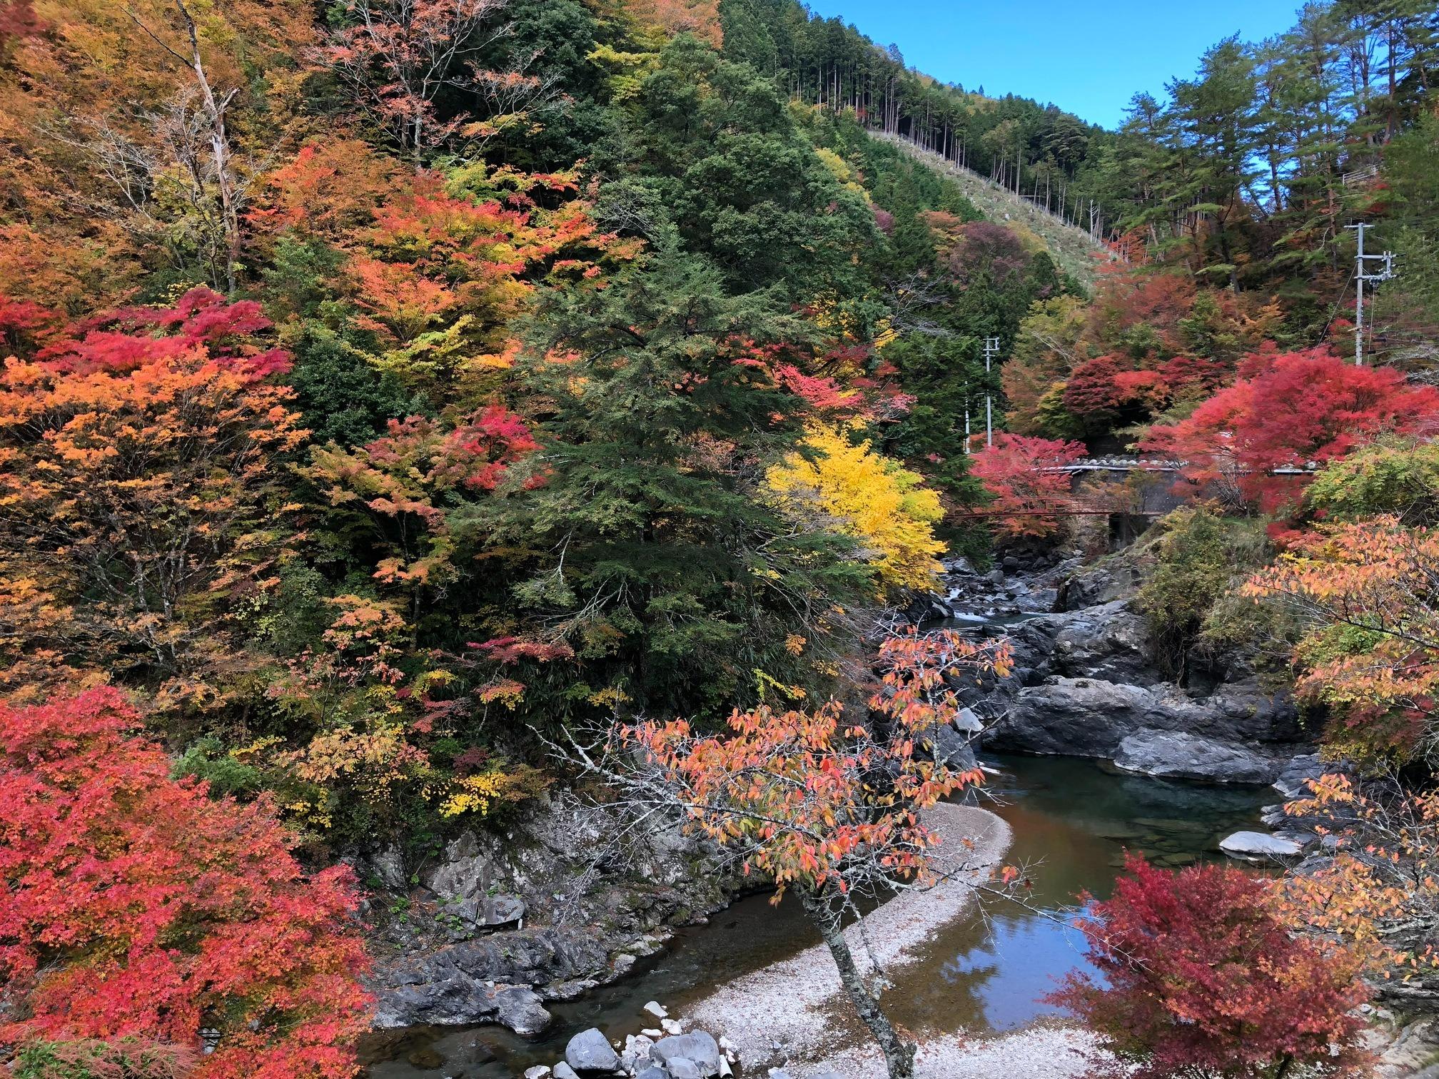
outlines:
[[[1419, 0], [1220, 42], [1120, 131], [796, 0], [0, 0], [10, 1070], [354, 1075], [361, 903], [561, 793], [662, 800], [845, 971], [850, 889], [931, 880], [920, 811], [983, 778], [957, 688], [1013, 670], [904, 611], [941, 557], [1102, 554], [1144, 511], [1091, 453], [1193, 504], [1138, 600], [1176, 685], [1262, 639], [1350, 774], [1426, 790], [1436, 78]], [[1278, 903], [1356, 948], [1284, 951], [1330, 988], [1279, 1056], [1348, 1046], [1356, 971], [1435, 980], [1403, 834], [1407, 883]]]

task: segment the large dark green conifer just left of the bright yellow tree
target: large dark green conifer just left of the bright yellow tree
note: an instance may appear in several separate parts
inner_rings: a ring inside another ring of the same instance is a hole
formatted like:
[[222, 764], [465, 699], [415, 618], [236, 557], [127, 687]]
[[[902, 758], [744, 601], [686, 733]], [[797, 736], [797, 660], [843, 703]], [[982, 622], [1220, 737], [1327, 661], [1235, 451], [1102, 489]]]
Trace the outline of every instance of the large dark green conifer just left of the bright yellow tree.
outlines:
[[541, 410], [543, 486], [507, 504], [502, 534], [535, 551], [519, 601], [584, 662], [553, 689], [568, 708], [714, 715], [753, 699], [755, 670], [806, 678], [786, 637], [843, 623], [830, 597], [868, 583], [849, 542], [794, 534], [757, 492], [797, 401], [735, 363], [737, 340], [804, 334], [673, 247], [603, 292], [541, 305], [521, 386]]

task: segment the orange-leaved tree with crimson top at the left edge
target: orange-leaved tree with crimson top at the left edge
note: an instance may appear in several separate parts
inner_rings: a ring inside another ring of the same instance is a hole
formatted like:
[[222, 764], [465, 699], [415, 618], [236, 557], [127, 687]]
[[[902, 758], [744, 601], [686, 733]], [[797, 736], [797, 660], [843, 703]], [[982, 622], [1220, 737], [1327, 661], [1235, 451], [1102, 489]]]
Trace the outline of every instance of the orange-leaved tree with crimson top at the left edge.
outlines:
[[[7, 682], [73, 668], [213, 704], [239, 660], [235, 604], [281, 550], [276, 457], [304, 437], [253, 304], [71, 328], [0, 370], [0, 636]], [[157, 332], [158, 331], [158, 332]]]

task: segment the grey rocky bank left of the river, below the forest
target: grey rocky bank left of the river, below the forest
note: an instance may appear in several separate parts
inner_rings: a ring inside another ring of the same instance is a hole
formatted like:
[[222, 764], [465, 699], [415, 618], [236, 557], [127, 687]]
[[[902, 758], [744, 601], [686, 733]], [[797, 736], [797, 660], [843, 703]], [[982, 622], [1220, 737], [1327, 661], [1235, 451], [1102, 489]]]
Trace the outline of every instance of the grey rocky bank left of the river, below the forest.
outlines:
[[504, 833], [466, 832], [423, 865], [390, 849], [358, 865], [371, 901], [380, 1029], [502, 1023], [625, 974], [673, 925], [738, 888], [676, 827], [635, 832], [573, 800], [528, 803]]

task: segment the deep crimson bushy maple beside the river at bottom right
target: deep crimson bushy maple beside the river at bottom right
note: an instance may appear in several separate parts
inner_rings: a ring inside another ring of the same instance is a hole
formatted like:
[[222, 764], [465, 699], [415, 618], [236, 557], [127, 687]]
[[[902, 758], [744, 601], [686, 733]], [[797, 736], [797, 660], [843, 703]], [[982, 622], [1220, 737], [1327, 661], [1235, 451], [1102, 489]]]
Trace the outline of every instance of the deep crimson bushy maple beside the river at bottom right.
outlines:
[[1073, 974], [1050, 1000], [1092, 1026], [1127, 1073], [1364, 1073], [1356, 964], [1292, 935], [1263, 878], [1226, 866], [1171, 873], [1140, 856], [1125, 869], [1081, 922], [1102, 981]]

